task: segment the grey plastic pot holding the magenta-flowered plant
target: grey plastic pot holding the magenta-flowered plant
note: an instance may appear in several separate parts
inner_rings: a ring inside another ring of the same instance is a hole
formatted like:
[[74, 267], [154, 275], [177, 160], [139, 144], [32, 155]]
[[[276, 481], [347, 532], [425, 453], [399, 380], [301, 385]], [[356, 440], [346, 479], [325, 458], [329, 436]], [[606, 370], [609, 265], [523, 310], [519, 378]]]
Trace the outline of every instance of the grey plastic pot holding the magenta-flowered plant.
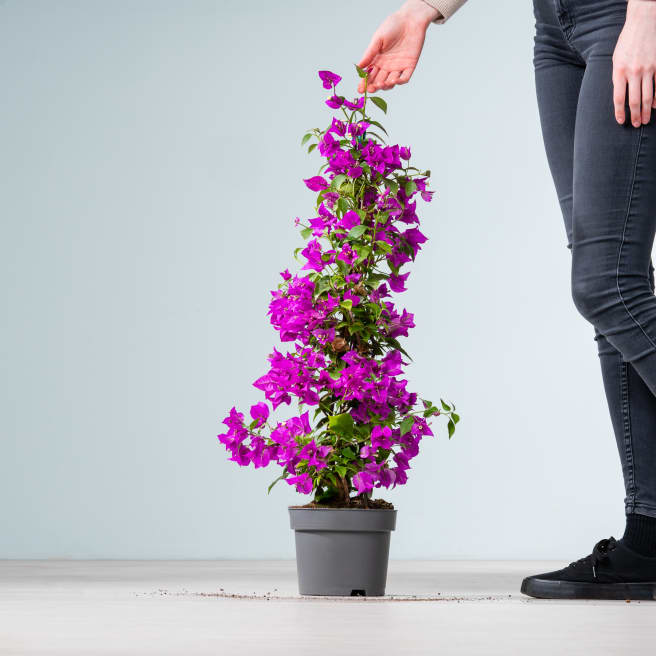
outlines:
[[396, 510], [289, 508], [302, 595], [385, 594]]

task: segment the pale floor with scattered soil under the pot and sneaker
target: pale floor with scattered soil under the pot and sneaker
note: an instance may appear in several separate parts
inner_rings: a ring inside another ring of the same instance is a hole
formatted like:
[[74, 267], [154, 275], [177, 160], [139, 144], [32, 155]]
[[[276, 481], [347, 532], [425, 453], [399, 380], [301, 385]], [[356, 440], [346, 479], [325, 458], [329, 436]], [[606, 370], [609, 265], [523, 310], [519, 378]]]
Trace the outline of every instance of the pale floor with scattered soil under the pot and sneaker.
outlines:
[[392, 561], [388, 597], [322, 599], [294, 561], [0, 561], [0, 655], [656, 653], [656, 602], [519, 593], [562, 564]]

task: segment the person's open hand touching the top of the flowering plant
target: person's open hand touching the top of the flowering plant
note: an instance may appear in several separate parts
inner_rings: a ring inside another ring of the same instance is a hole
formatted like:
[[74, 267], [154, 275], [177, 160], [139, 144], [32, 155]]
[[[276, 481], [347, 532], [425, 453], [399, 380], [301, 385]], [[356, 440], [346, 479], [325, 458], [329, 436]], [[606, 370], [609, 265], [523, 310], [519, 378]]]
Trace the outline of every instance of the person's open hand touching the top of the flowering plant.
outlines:
[[[424, 0], [407, 0], [381, 23], [358, 64], [369, 70], [368, 92], [391, 89], [410, 79], [424, 46], [426, 30], [439, 16], [440, 12]], [[358, 93], [364, 93], [364, 80], [358, 85]]]

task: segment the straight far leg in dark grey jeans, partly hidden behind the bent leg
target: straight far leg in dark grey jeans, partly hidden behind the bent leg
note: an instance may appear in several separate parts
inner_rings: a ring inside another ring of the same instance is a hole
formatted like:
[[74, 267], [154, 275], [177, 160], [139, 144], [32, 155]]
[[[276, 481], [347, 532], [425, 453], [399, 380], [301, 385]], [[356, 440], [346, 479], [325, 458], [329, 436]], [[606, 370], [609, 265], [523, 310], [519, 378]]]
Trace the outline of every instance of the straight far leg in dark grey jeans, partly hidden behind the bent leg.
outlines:
[[[553, 0], [536, 0], [535, 85], [547, 161], [572, 247], [574, 132], [585, 61], [565, 40]], [[595, 329], [601, 372], [615, 434], [626, 513], [636, 501], [635, 462], [649, 462], [656, 437], [656, 396], [620, 352]], [[647, 450], [647, 454], [643, 451]], [[656, 452], [656, 450], [654, 450]]]

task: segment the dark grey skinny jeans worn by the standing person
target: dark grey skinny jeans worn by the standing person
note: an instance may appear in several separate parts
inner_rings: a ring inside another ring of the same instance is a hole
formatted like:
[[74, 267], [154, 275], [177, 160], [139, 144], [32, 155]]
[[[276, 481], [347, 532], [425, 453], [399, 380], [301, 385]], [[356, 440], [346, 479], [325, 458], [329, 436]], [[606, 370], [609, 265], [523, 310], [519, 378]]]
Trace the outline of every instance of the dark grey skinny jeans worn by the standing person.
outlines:
[[612, 55], [626, 0], [534, 0], [547, 159], [572, 253], [572, 296], [594, 326], [626, 513], [656, 517], [656, 111], [619, 125]]

